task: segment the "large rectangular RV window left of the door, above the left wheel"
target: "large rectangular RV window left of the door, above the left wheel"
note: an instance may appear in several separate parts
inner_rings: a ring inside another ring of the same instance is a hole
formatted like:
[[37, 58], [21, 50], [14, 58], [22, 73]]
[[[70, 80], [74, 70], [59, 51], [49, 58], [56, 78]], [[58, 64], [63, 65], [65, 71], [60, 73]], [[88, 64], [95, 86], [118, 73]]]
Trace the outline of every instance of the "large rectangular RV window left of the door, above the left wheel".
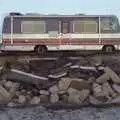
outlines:
[[22, 21], [21, 32], [28, 34], [42, 34], [45, 33], [45, 22], [44, 21]]

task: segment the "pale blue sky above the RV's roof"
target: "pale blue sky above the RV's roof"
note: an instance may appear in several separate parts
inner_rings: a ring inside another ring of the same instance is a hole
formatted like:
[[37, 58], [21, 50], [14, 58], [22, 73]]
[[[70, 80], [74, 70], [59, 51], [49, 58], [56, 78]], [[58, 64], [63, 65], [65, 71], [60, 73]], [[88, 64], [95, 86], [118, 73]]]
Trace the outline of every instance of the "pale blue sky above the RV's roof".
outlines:
[[115, 14], [120, 21], [120, 0], [0, 0], [0, 24], [9, 12], [42, 14]]

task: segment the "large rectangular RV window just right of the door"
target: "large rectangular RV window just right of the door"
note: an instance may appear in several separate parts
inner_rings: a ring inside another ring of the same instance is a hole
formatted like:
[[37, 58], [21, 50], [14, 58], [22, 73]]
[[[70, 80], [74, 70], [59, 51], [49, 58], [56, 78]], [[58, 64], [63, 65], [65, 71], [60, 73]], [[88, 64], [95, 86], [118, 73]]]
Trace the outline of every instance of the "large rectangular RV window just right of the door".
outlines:
[[97, 21], [74, 21], [74, 30], [75, 33], [97, 33], [98, 32], [98, 23]]

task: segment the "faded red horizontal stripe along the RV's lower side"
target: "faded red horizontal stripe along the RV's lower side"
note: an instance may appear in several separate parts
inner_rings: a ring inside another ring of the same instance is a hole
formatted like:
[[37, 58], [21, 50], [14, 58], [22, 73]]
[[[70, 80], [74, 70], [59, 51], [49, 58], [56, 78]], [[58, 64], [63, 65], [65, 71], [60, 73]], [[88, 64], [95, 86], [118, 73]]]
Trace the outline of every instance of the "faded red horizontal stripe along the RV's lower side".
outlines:
[[[5, 45], [10, 45], [11, 40], [10, 39], [4, 39], [3, 40]], [[120, 39], [119, 38], [114, 38], [114, 39], [101, 39], [101, 44], [99, 43], [99, 39], [30, 39], [28, 41], [22, 40], [22, 39], [17, 39], [13, 40], [13, 43], [15, 45], [105, 45], [105, 44], [120, 44]]]

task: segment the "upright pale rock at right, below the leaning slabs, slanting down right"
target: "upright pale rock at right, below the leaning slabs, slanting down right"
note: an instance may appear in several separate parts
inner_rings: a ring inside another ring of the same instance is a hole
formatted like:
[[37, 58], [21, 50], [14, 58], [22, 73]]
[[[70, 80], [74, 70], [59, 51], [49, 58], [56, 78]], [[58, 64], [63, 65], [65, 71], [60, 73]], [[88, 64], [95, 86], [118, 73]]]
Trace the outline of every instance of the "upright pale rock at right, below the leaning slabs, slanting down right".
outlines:
[[112, 97], [116, 97], [116, 93], [111, 88], [111, 86], [109, 85], [109, 83], [107, 83], [107, 82], [104, 83], [103, 86], [102, 86], [102, 89], [104, 91], [105, 96], [111, 95]]

